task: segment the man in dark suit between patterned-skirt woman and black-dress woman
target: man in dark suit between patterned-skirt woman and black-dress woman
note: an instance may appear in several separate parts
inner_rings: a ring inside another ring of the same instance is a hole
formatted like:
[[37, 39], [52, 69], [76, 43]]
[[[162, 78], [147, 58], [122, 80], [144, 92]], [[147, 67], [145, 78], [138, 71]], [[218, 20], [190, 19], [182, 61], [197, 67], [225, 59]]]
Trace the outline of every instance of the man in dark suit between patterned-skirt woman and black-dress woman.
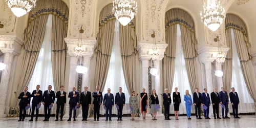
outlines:
[[163, 105], [164, 105], [164, 118], [165, 120], [170, 120], [170, 105], [172, 104], [172, 99], [168, 93], [168, 89], [164, 89], [163, 93]]

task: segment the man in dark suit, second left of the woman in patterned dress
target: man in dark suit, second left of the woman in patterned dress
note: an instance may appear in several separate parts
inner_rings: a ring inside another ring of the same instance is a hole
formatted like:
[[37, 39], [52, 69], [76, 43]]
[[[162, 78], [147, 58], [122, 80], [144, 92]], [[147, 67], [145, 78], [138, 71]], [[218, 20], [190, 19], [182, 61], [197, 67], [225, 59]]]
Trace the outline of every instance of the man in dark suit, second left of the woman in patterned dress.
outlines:
[[[103, 106], [106, 107], [105, 121], [108, 121], [108, 117], [110, 118], [110, 121], [112, 121], [111, 116], [112, 116], [112, 106], [114, 106], [114, 95], [110, 93], [110, 91], [111, 90], [109, 88], [108, 93], [106, 93], [103, 98]], [[109, 111], [110, 111], [110, 114], [109, 114]]]

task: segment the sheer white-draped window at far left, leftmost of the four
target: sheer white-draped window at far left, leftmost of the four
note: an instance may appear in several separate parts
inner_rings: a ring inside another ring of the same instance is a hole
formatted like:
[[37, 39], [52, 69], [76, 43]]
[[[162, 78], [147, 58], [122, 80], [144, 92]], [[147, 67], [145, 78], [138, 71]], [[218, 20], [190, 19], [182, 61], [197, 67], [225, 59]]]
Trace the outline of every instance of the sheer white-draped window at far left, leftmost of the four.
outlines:
[[[40, 85], [40, 90], [44, 93], [48, 90], [48, 86], [53, 86], [53, 75], [52, 75], [52, 15], [50, 14], [46, 24], [46, 31], [44, 40], [42, 41], [41, 50], [36, 60], [35, 69], [32, 78], [29, 82], [29, 92], [32, 93], [36, 89], [36, 85]], [[32, 99], [31, 99], [32, 101]], [[44, 106], [42, 105], [39, 109], [39, 114], [44, 114]], [[30, 110], [28, 111], [30, 112]], [[54, 112], [54, 111], [52, 111]]]

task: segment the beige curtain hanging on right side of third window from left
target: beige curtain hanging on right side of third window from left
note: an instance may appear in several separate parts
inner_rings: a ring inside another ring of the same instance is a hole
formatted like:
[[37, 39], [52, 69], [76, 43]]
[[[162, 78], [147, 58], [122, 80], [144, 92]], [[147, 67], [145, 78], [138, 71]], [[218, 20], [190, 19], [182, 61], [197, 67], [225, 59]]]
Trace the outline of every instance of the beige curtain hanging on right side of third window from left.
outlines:
[[195, 32], [187, 29], [186, 26], [181, 25], [181, 38], [184, 52], [184, 58], [186, 63], [186, 70], [188, 81], [191, 91], [194, 92], [198, 87], [198, 75], [197, 75], [197, 41], [195, 40]]

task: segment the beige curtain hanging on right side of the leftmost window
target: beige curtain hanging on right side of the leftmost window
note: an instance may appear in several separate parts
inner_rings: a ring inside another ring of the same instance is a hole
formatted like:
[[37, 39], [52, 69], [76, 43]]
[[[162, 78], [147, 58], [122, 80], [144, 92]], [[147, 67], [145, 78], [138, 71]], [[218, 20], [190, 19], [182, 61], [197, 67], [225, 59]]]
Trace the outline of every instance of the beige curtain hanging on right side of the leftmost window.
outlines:
[[[60, 2], [58, 8], [68, 17], [69, 9], [65, 3]], [[67, 37], [68, 24], [58, 15], [53, 15], [52, 20], [52, 75], [54, 90], [57, 92], [65, 84], [67, 45], [64, 38]]]

